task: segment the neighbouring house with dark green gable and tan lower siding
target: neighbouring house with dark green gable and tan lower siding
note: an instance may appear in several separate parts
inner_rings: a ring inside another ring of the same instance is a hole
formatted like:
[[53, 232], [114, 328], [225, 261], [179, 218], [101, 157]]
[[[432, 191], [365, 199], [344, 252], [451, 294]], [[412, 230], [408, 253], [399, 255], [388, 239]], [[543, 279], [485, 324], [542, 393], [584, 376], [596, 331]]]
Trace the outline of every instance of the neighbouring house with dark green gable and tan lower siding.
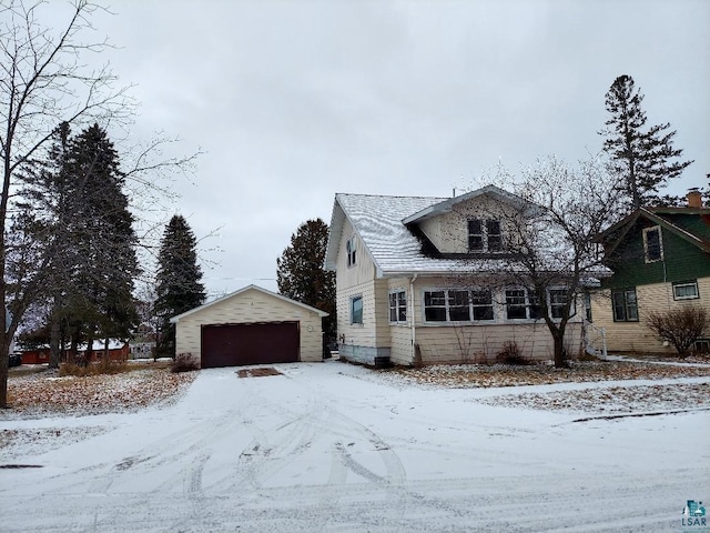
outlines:
[[[641, 208], [600, 235], [613, 275], [592, 299], [596, 326], [617, 352], [674, 353], [646, 325], [648, 313], [686, 305], [710, 311], [710, 209], [698, 191], [684, 208]], [[710, 331], [697, 348], [707, 351]]]

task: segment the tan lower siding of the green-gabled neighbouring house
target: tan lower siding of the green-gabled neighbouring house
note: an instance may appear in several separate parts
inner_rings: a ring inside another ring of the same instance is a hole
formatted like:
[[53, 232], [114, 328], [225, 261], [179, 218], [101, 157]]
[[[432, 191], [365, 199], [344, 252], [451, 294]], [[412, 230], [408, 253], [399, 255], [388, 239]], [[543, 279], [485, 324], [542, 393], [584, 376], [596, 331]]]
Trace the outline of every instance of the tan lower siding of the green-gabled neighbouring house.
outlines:
[[[639, 285], [636, 288], [639, 321], [615, 322], [611, 291], [601, 290], [592, 298], [594, 324], [606, 330], [607, 350], [610, 352], [673, 354], [676, 350], [663, 346], [646, 326], [646, 318], [651, 311], [663, 312], [684, 305], [700, 305], [710, 312], [710, 278], [698, 279], [698, 292], [699, 299], [673, 300], [672, 283]], [[710, 336], [710, 331], [706, 331], [704, 336]]]

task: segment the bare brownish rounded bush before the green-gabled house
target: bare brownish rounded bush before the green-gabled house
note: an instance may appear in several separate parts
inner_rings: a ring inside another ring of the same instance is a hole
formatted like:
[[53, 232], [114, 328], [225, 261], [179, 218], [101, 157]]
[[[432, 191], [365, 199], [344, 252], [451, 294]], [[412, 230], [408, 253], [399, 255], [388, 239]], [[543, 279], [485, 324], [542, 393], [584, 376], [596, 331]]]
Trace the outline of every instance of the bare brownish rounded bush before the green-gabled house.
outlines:
[[652, 311], [646, 325], [661, 341], [672, 344], [680, 355], [687, 355], [692, 344], [710, 329], [710, 313], [698, 305], [671, 309], [666, 312]]

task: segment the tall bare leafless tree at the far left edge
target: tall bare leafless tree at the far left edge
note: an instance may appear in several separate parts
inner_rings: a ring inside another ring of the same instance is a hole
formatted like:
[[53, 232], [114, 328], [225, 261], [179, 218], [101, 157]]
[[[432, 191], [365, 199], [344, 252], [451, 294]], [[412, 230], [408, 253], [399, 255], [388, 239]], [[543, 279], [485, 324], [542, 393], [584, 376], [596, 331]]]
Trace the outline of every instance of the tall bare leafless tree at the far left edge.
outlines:
[[[40, 1], [22, 0], [0, 4], [0, 292], [9, 311], [0, 313], [0, 408], [7, 406], [12, 338], [26, 310], [40, 294], [51, 268], [53, 247], [61, 245], [53, 240], [50, 247], [38, 247], [31, 239], [12, 232], [13, 194], [22, 171], [49, 152], [60, 123], [125, 124], [135, 109], [128, 95], [130, 88], [115, 89], [116, 78], [108, 67], [92, 69], [82, 63], [85, 53], [109, 47], [105, 40], [83, 40], [92, 29], [91, 16], [102, 8], [88, 0], [74, 0], [67, 21], [52, 29], [39, 21], [42, 6]], [[150, 181], [144, 178], [146, 172], [184, 168], [196, 157], [155, 161], [152, 155], [164, 142], [169, 140], [152, 140], [135, 150], [124, 167], [126, 179], [145, 185]]]

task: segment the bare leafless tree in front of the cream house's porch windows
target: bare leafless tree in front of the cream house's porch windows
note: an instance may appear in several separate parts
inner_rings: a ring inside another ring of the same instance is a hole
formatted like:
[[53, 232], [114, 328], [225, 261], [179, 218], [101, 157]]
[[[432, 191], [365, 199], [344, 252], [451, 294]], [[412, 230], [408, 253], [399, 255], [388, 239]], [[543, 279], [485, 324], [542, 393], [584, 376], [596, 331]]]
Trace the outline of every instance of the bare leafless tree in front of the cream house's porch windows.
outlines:
[[572, 168], [551, 157], [517, 179], [506, 172], [500, 179], [523, 204], [491, 215], [509, 237], [503, 253], [474, 268], [491, 269], [494, 259], [490, 273], [506, 288], [500, 291], [506, 313], [544, 321], [554, 340], [555, 366], [566, 366], [565, 334], [579, 295], [606, 271], [596, 237], [618, 217], [617, 178], [595, 158]]

